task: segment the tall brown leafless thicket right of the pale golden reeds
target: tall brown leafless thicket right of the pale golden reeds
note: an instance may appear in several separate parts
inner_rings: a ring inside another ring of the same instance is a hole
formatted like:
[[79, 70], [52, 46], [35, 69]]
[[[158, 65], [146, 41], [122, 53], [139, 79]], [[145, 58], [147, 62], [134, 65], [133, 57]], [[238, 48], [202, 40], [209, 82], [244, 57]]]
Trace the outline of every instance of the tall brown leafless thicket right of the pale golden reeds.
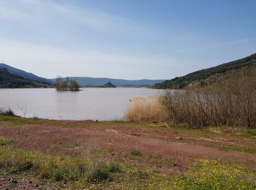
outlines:
[[200, 93], [167, 92], [162, 104], [170, 123], [256, 128], [256, 72], [245, 70]]

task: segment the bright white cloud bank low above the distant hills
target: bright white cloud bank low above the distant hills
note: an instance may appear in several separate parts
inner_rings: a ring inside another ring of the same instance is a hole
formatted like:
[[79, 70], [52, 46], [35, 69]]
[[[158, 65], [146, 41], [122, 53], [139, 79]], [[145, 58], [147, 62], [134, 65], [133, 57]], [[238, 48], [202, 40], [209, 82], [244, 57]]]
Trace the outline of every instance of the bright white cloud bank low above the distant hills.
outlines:
[[[70, 51], [0, 39], [0, 62], [34, 72], [42, 77], [91, 76], [136, 79], [156, 78], [157, 72], [175, 63], [168, 58], [108, 53], [91, 50]], [[159, 70], [158, 70], [159, 69]]]

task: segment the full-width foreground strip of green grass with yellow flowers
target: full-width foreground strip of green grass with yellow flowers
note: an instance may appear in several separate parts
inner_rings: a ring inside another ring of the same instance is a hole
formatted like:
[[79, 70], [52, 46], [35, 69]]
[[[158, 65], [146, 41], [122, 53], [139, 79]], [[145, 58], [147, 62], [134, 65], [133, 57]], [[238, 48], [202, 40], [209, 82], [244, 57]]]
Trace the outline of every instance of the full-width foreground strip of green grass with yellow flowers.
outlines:
[[69, 189], [255, 189], [256, 173], [200, 159], [181, 175], [153, 172], [141, 164], [119, 164], [76, 156], [50, 156], [0, 146], [0, 175], [33, 175], [67, 183]]

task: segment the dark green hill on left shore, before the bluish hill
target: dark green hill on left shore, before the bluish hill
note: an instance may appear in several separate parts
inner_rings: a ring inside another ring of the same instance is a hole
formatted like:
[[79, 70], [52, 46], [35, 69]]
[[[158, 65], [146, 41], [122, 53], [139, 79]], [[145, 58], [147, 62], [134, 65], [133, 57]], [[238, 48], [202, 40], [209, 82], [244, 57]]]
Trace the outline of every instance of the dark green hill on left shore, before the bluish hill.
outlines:
[[7, 69], [0, 69], [0, 88], [47, 88], [49, 83], [41, 83], [26, 77], [11, 74]]

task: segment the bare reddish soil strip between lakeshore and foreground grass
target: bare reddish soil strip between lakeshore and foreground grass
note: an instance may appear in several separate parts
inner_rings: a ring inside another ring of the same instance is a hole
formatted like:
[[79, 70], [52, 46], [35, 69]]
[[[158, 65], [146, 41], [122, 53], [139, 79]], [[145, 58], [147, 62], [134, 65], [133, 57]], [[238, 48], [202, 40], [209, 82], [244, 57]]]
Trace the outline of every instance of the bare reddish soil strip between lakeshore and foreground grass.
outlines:
[[122, 126], [121, 123], [120, 126], [102, 126], [99, 123], [99, 126], [69, 128], [50, 124], [2, 126], [0, 136], [17, 140], [20, 148], [51, 154], [86, 154], [89, 148], [99, 148], [116, 156], [136, 149], [142, 153], [184, 161], [208, 157], [256, 162], [255, 154], [219, 151], [202, 143], [195, 145], [186, 139], [177, 140], [179, 135], [176, 132]]

